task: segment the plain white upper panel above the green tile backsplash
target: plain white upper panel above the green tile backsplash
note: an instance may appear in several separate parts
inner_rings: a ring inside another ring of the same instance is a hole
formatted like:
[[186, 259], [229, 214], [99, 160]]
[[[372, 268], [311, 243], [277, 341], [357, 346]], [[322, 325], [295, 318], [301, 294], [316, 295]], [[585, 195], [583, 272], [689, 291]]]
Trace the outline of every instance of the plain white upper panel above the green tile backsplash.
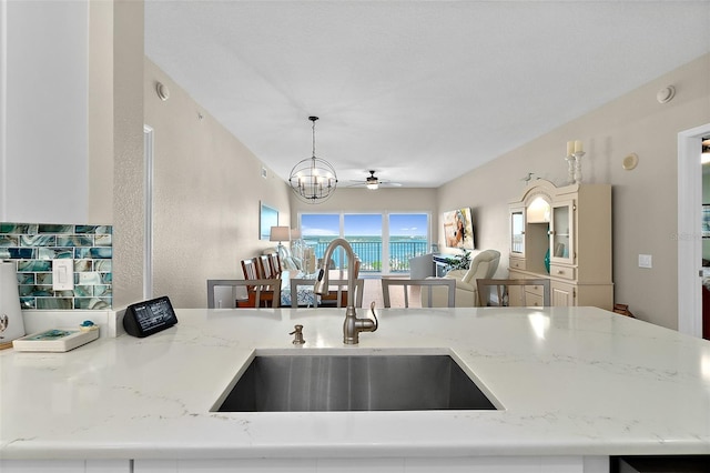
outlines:
[[0, 9], [0, 221], [87, 222], [89, 2]]

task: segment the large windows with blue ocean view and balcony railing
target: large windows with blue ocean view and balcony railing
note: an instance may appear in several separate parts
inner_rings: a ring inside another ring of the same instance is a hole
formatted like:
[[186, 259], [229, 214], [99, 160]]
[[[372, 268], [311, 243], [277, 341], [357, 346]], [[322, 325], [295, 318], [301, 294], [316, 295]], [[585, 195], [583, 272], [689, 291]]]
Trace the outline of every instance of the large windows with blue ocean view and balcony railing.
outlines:
[[[409, 259], [429, 248], [427, 213], [303, 213], [302, 238], [323, 258], [328, 243], [345, 238], [361, 260], [363, 273], [407, 273]], [[342, 251], [334, 254], [337, 268], [347, 268]]]

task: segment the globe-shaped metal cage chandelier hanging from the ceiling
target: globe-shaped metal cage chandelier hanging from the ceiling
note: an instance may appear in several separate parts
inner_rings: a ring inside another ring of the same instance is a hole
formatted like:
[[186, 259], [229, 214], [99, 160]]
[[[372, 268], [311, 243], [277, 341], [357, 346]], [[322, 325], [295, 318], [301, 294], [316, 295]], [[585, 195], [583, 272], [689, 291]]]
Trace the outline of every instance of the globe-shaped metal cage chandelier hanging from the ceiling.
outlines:
[[288, 183], [300, 200], [306, 203], [325, 202], [337, 187], [335, 169], [324, 159], [315, 157], [315, 121], [317, 117], [308, 117], [313, 122], [313, 152], [311, 158], [300, 161], [291, 170]]

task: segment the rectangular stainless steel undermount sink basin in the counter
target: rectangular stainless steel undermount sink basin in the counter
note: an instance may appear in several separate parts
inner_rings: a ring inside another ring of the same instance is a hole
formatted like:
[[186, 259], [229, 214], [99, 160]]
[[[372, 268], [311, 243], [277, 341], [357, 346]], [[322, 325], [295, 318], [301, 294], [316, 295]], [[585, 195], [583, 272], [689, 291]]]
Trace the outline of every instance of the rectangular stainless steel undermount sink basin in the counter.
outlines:
[[257, 355], [227, 392], [215, 411], [496, 409], [447, 354]]

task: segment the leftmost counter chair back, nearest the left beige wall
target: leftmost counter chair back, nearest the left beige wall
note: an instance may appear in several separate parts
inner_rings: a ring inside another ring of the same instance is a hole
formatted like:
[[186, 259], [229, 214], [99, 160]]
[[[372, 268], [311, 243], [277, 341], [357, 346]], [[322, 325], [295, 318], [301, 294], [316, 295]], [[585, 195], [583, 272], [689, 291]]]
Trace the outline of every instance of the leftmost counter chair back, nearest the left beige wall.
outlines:
[[[230, 304], [225, 305], [215, 291], [230, 288]], [[266, 296], [267, 295], [267, 296]], [[256, 301], [261, 301], [256, 304]], [[216, 305], [215, 305], [216, 302]], [[272, 279], [209, 279], [207, 309], [245, 309], [281, 306], [281, 280]]]

